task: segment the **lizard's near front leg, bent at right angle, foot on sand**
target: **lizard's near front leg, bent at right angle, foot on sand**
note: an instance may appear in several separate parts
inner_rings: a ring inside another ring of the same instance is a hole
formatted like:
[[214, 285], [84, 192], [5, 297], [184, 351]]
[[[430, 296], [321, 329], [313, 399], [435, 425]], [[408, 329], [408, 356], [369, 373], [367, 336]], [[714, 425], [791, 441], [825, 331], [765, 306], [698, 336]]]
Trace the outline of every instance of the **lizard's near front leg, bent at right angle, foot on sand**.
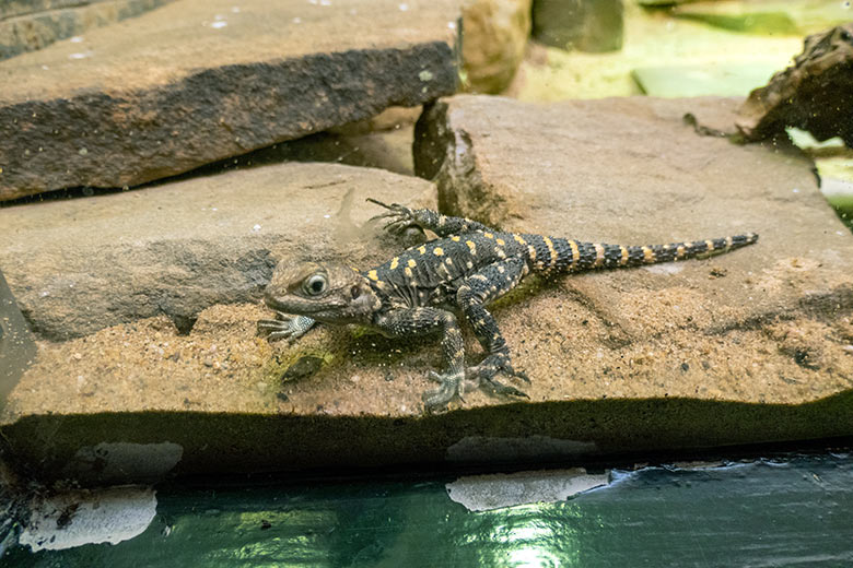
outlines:
[[379, 316], [375, 326], [392, 338], [411, 338], [442, 333], [444, 371], [430, 371], [430, 378], [441, 386], [423, 393], [426, 411], [441, 410], [454, 398], [461, 399], [465, 380], [465, 346], [461, 331], [453, 312], [439, 308], [399, 308]]

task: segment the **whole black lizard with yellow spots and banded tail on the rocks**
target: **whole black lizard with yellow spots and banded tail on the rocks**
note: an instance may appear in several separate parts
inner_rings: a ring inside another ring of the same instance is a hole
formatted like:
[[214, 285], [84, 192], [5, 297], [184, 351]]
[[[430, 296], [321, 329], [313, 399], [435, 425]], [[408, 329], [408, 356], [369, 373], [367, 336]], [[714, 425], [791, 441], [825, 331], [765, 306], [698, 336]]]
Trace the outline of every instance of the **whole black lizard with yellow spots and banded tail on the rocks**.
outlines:
[[[343, 263], [306, 262], [277, 270], [264, 301], [276, 319], [260, 320], [269, 341], [294, 340], [316, 322], [361, 324], [390, 338], [441, 334], [444, 370], [430, 371], [437, 389], [423, 393], [428, 412], [445, 409], [468, 382], [496, 394], [526, 397], [498, 375], [529, 378], [513, 367], [510, 350], [487, 305], [530, 273], [544, 276], [638, 267], [722, 253], [751, 245], [755, 233], [669, 245], [623, 246], [584, 242], [527, 233], [507, 233], [429, 209], [410, 209], [367, 199], [385, 208], [372, 218], [385, 229], [429, 229], [437, 238], [413, 246], [366, 272]], [[463, 317], [474, 329], [486, 357], [465, 366], [459, 328]]]

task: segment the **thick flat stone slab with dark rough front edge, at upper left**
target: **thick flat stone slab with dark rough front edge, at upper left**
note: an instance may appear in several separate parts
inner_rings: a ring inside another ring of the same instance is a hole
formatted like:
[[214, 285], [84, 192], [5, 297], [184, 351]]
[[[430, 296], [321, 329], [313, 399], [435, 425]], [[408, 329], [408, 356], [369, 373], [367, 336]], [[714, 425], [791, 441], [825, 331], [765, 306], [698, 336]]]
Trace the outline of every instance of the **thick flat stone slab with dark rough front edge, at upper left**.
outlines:
[[452, 94], [458, 14], [182, 1], [0, 62], [0, 200], [136, 186]]

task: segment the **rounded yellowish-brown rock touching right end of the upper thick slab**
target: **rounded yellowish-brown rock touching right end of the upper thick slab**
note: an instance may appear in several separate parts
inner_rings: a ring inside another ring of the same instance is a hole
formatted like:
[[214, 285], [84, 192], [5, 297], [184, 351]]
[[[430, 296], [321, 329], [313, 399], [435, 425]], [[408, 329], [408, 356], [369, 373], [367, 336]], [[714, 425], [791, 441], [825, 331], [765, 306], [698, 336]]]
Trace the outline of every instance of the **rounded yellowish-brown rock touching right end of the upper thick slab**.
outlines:
[[468, 91], [500, 93], [524, 59], [531, 0], [474, 0], [463, 8], [463, 68]]

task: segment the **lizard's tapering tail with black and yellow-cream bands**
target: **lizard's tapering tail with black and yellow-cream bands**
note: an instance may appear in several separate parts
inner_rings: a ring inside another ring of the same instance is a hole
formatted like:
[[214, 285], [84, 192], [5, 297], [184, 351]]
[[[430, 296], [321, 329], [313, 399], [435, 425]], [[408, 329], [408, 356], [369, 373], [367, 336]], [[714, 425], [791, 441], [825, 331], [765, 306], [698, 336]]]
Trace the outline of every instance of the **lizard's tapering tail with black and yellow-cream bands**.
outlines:
[[563, 272], [594, 269], [615, 269], [620, 267], [639, 267], [687, 260], [702, 256], [722, 255], [740, 247], [746, 247], [758, 240], [755, 233], [746, 233], [733, 237], [722, 237], [692, 242], [670, 242], [669, 245], [648, 245], [627, 247], [605, 242], [581, 242], [563, 238], [539, 237], [525, 235], [533, 240], [530, 260], [537, 272]]

